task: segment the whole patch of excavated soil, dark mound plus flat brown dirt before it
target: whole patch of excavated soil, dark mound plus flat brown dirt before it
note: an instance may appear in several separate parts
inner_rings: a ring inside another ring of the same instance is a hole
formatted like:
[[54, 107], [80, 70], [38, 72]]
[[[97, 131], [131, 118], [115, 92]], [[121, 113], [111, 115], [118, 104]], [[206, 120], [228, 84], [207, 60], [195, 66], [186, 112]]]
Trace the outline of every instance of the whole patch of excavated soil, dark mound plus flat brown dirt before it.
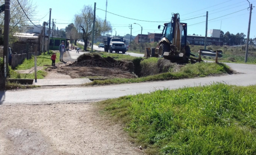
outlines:
[[116, 61], [111, 57], [102, 58], [100, 55], [93, 56], [84, 54], [73, 63], [47, 68], [47, 72], [69, 75], [71, 78], [135, 78], [130, 73], [129, 62]]

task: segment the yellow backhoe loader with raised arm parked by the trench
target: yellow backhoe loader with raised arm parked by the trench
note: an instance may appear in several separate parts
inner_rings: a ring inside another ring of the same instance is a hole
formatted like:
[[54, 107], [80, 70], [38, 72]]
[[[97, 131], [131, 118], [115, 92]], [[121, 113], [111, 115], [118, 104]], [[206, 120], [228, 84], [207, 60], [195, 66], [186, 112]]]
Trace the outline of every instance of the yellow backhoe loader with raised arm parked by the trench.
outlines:
[[[201, 57], [197, 57], [190, 53], [190, 43], [187, 41], [187, 23], [180, 23], [180, 15], [173, 14], [171, 22], [164, 24], [162, 36], [157, 43], [158, 48], [146, 47], [144, 57], [164, 57], [171, 61], [188, 60], [202, 61]], [[161, 26], [158, 26], [160, 29]], [[191, 57], [194, 56], [194, 57]]]

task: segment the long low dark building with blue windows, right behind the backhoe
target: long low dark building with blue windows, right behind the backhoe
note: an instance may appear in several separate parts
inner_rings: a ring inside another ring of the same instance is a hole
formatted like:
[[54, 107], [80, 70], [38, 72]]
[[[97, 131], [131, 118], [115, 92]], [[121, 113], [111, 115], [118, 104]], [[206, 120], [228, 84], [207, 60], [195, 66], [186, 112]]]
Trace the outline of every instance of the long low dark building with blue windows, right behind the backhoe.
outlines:
[[[192, 45], [204, 45], [204, 36], [187, 35], [187, 41]], [[207, 37], [206, 45], [223, 45], [223, 38]]]

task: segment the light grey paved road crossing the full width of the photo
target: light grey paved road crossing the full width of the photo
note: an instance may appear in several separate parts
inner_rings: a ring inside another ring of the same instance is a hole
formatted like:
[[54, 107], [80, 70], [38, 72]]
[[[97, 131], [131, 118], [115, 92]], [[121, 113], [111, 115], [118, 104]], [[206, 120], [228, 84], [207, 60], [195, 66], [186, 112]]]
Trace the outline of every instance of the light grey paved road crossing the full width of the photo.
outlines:
[[240, 74], [99, 87], [71, 87], [6, 91], [0, 92], [0, 104], [88, 102], [116, 98], [125, 96], [127, 94], [148, 93], [156, 89], [175, 89], [184, 86], [193, 87], [197, 85], [208, 85], [212, 82], [225, 82], [230, 85], [243, 86], [256, 85], [256, 65], [238, 63], [227, 64]]

